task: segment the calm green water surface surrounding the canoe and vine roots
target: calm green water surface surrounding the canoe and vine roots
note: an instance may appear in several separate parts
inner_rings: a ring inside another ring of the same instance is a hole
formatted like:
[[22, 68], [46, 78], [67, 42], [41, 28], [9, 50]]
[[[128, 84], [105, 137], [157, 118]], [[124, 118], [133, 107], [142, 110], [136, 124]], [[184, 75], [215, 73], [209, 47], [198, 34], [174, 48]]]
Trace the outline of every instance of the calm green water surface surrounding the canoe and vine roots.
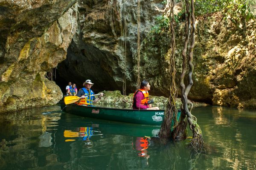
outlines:
[[[256, 111], [200, 107], [193, 114], [202, 153], [187, 141], [161, 145], [159, 127], [83, 118], [59, 106], [1, 114], [0, 170], [256, 169]], [[145, 135], [151, 140], [140, 150]]]

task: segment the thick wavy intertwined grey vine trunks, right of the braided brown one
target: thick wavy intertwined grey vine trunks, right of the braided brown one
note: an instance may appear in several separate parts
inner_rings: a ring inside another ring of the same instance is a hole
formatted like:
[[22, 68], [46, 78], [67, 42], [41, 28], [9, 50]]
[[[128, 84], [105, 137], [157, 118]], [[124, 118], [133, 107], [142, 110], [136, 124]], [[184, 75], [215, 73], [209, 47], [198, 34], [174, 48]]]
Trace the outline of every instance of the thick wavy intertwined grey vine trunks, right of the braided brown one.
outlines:
[[[181, 88], [181, 101], [182, 105], [180, 107], [181, 109], [181, 120], [180, 123], [175, 127], [172, 133], [172, 138], [174, 140], [181, 140], [186, 138], [186, 125], [187, 122], [189, 123], [189, 128], [192, 130], [193, 133], [193, 138], [190, 142], [190, 145], [195, 149], [195, 150], [200, 150], [203, 145], [203, 136], [202, 136], [202, 131], [197, 124], [197, 119], [195, 116], [191, 114], [193, 104], [188, 100], [188, 94], [189, 91], [193, 85], [193, 80], [192, 80], [192, 73], [194, 70], [194, 65], [193, 65], [193, 49], [195, 46], [195, 7], [194, 7], [194, 0], [191, 0], [190, 6], [191, 6], [191, 12], [189, 9], [189, 0], [186, 1], [186, 38], [183, 46], [183, 51], [182, 51], [182, 57], [183, 57], [183, 63], [182, 63], [182, 73], [180, 75], [180, 88]], [[192, 23], [191, 23], [192, 20]], [[192, 34], [191, 34], [191, 45], [189, 47], [189, 55], [186, 55], [186, 50], [187, 50], [187, 45], [189, 42], [189, 37], [190, 37], [190, 30], [192, 26]], [[184, 78], [186, 75], [186, 68], [187, 68], [187, 62], [189, 65], [189, 72], [188, 72], [188, 84], [185, 85], [184, 83]], [[188, 107], [190, 105], [190, 108]]]

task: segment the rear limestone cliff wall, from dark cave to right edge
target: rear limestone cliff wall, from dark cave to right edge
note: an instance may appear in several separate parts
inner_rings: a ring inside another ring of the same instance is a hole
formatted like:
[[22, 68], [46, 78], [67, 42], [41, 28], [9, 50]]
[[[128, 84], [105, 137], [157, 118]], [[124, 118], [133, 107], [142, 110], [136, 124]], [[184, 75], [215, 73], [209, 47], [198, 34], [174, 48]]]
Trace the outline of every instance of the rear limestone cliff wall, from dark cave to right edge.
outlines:
[[[169, 37], [166, 31], [154, 34], [155, 18], [162, 15], [160, 1], [140, 4], [141, 79], [151, 83], [150, 94], [169, 96]], [[177, 6], [177, 10], [180, 10]], [[178, 11], [176, 11], [177, 13]], [[137, 81], [137, 1], [79, 1], [77, 34], [68, 48], [67, 59], [58, 65], [59, 77], [79, 87], [86, 79], [95, 82], [93, 90], [134, 92]], [[194, 49], [194, 85], [189, 99], [214, 105], [256, 107], [255, 20], [234, 25], [220, 14], [197, 20]], [[184, 21], [176, 23], [176, 82], [179, 90]], [[243, 33], [244, 32], [244, 33]], [[125, 43], [126, 42], [126, 43]], [[61, 73], [61, 74], [60, 74]], [[63, 87], [64, 88], [64, 87]]]

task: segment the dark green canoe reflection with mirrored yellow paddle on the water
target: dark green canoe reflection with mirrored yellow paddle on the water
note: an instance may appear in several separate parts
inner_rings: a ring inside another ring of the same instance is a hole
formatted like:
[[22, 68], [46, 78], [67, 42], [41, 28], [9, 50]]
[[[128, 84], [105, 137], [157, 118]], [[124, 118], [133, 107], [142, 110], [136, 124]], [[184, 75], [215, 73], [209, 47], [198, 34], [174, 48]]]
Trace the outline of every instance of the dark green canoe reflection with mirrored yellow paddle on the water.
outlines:
[[[63, 124], [65, 126], [63, 126]], [[101, 135], [124, 136], [158, 136], [160, 126], [140, 125], [124, 122], [112, 122], [101, 119], [83, 118], [71, 114], [62, 114], [59, 121], [60, 129], [66, 139], [76, 139], [81, 136], [90, 136], [89, 130], [93, 130], [92, 138], [99, 139]], [[85, 128], [84, 132], [81, 128]], [[96, 135], [96, 136], [95, 136]]]

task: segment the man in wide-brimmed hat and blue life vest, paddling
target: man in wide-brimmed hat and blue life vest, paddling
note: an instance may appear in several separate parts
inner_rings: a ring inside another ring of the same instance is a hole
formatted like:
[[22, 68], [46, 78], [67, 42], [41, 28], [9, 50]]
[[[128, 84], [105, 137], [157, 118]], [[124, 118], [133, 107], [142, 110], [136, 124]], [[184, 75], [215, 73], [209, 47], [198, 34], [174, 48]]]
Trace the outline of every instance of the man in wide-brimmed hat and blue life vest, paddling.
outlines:
[[95, 96], [92, 96], [94, 93], [90, 88], [93, 86], [93, 84], [94, 83], [92, 83], [90, 79], [87, 79], [83, 83], [84, 88], [81, 88], [77, 93], [77, 96], [82, 98], [77, 103], [78, 105], [93, 106], [93, 104], [98, 102], [99, 99], [104, 95], [103, 93], [101, 93], [98, 98], [95, 98]]

